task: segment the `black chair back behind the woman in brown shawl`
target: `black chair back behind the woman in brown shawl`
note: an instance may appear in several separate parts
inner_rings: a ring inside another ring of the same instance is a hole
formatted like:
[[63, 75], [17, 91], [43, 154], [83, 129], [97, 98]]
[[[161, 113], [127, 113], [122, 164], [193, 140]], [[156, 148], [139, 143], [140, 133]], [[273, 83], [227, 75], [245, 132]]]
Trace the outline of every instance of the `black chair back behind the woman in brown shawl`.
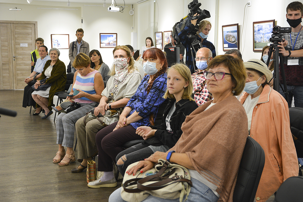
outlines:
[[262, 147], [250, 136], [247, 137], [243, 151], [237, 183], [234, 190], [234, 202], [253, 202], [265, 163]]

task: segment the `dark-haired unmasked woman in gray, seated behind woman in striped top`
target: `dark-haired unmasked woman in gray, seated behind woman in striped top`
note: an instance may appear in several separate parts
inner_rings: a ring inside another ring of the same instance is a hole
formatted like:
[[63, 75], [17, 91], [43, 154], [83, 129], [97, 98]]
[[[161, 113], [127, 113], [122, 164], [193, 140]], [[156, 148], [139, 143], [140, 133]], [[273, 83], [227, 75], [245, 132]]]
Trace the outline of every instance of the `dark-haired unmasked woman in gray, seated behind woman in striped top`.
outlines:
[[91, 68], [99, 71], [102, 75], [104, 87], [106, 87], [106, 83], [109, 79], [109, 68], [107, 64], [105, 64], [102, 60], [102, 56], [98, 50], [91, 50], [89, 52], [89, 57], [91, 59]]

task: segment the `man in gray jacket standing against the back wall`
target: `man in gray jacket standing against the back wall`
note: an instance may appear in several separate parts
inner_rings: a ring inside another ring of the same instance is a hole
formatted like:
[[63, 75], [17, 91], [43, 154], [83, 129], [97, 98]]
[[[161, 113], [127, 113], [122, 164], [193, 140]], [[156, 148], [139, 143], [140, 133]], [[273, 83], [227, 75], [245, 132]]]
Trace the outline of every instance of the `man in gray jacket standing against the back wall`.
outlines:
[[75, 68], [73, 67], [73, 62], [75, 57], [80, 52], [83, 52], [89, 56], [89, 44], [88, 42], [82, 40], [83, 36], [84, 36], [83, 29], [82, 28], [77, 29], [76, 31], [77, 41], [71, 42], [69, 44], [68, 56], [69, 56], [69, 60], [71, 61], [72, 72], [76, 72]]

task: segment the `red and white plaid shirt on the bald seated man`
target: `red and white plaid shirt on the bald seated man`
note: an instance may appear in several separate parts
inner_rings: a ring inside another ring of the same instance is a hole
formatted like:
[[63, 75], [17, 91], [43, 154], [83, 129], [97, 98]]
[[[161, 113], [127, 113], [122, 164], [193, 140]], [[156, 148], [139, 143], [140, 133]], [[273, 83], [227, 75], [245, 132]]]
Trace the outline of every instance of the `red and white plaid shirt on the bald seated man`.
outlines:
[[204, 71], [197, 71], [191, 75], [192, 83], [194, 85], [194, 98], [198, 106], [211, 100], [213, 97], [206, 88], [206, 79], [203, 76]]

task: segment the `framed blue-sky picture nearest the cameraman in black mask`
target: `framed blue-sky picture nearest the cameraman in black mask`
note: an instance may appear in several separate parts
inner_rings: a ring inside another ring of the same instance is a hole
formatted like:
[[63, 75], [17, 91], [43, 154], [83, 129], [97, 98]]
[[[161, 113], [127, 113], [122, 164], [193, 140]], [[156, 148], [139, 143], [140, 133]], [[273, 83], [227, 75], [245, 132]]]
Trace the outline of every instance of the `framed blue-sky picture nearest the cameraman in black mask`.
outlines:
[[275, 20], [265, 20], [253, 22], [253, 51], [262, 52], [262, 48], [271, 42], [272, 28], [275, 26]]

